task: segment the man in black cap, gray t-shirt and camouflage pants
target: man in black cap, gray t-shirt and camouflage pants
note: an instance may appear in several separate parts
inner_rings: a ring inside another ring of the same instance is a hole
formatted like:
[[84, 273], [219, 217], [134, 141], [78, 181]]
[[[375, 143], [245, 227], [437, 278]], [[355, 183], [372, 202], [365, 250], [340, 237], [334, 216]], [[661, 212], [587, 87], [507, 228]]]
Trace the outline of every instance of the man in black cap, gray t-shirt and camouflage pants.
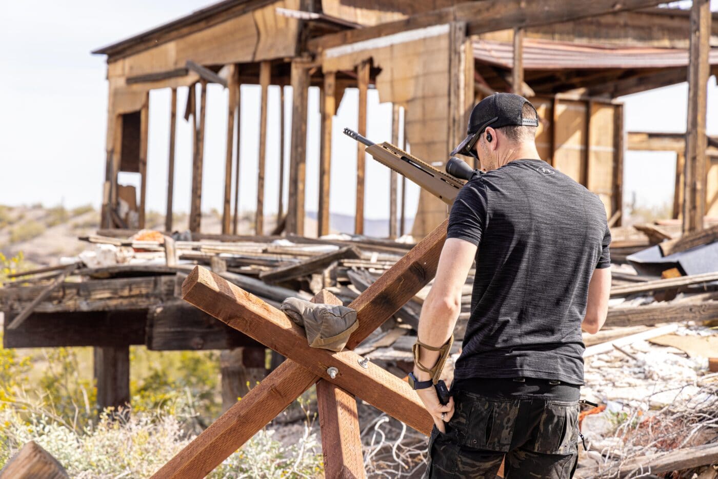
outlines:
[[[537, 126], [526, 98], [496, 93], [474, 107], [452, 152], [477, 157], [485, 173], [454, 201], [421, 308], [410, 382], [436, 424], [430, 478], [493, 479], [504, 458], [506, 478], [569, 478], [576, 468], [581, 330], [605, 322], [610, 231], [597, 195], [540, 159]], [[471, 315], [442, 406], [433, 385], [474, 261]]]

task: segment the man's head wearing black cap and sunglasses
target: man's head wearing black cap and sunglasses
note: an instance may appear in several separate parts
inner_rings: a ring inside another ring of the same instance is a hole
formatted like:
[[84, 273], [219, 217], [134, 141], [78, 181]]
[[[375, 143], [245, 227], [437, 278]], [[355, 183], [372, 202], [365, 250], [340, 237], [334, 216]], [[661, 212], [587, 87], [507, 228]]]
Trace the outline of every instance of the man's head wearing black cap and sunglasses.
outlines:
[[451, 152], [476, 157], [486, 171], [510, 161], [517, 152], [535, 151], [538, 113], [531, 102], [513, 93], [495, 93], [471, 112], [467, 137]]

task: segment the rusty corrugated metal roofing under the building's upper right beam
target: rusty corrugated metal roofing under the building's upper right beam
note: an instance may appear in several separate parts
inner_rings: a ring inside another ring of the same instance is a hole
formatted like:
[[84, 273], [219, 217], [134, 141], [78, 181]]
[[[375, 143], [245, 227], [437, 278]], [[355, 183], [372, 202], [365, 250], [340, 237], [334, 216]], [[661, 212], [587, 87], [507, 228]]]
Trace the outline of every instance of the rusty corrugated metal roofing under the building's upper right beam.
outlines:
[[[474, 58], [482, 62], [513, 67], [513, 44], [475, 39]], [[710, 52], [711, 65], [718, 65], [718, 48]], [[561, 70], [583, 68], [671, 68], [688, 65], [688, 50], [581, 45], [544, 39], [523, 40], [523, 68]]]

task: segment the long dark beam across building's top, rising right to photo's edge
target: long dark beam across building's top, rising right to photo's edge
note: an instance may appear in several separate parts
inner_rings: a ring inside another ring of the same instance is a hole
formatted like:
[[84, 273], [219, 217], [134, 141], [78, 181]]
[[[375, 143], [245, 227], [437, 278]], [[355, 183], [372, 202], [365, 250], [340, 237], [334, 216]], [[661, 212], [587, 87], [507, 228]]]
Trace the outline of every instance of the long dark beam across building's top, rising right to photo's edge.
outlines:
[[656, 6], [661, 3], [663, 2], [656, 0], [625, 0], [621, 2], [616, 2], [615, 0], [582, 0], [570, 3], [564, 1], [526, 2], [522, 0], [487, 0], [478, 3], [469, 1], [440, 10], [416, 14], [396, 22], [345, 30], [344, 32], [311, 39], [307, 42], [307, 50], [310, 52], [322, 52], [332, 47], [349, 45], [411, 29], [431, 27], [449, 22], [466, 22], [467, 35], [476, 35], [514, 27], [538, 27], [540, 25], [570, 22], [616, 11]]

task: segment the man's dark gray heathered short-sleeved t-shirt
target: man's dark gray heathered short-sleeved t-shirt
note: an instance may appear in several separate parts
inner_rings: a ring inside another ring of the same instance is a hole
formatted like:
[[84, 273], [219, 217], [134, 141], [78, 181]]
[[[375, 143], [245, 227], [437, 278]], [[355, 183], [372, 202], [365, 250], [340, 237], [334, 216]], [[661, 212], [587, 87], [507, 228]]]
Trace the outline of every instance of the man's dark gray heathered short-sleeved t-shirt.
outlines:
[[478, 246], [454, 377], [582, 384], [588, 284], [610, 266], [600, 198], [544, 161], [518, 159], [462, 187], [447, 238]]

